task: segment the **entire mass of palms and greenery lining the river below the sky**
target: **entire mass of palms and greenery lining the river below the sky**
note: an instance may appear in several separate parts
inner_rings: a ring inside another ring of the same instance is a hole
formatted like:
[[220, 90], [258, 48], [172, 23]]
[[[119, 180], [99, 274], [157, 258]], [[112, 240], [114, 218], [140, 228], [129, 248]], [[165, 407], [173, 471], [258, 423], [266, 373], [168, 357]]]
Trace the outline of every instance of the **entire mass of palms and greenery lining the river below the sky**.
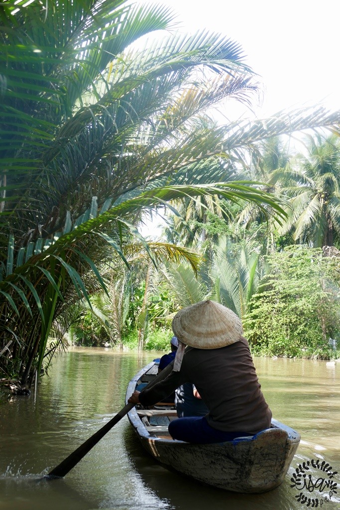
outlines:
[[[215, 123], [211, 107], [251, 105], [255, 74], [224, 35], [152, 42], [172, 27], [160, 5], [8, 0], [0, 14], [4, 377], [32, 384], [67, 341], [165, 347], [173, 314], [207, 297], [256, 353], [327, 358], [340, 112]], [[303, 130], [308, 151], [289, 154]], [[156, 209], [167, 226], [150, 241]]]

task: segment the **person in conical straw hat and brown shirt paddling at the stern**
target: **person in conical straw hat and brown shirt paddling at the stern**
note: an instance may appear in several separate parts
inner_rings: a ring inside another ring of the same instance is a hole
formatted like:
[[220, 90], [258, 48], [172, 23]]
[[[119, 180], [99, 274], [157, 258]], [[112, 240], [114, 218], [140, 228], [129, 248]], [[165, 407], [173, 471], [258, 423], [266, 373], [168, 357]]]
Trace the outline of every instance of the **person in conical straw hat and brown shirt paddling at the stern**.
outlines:
[[135, 391], [128, 401], [150, 406], [190, 382], [210, 411], [171, 421], [174, 439], [220, 443], [270, 428], [272, 413], [239, 317], [219, 303], [200, 301], [180, 310], [172, 329], [178, 339], [172, 372], [151, 388]]

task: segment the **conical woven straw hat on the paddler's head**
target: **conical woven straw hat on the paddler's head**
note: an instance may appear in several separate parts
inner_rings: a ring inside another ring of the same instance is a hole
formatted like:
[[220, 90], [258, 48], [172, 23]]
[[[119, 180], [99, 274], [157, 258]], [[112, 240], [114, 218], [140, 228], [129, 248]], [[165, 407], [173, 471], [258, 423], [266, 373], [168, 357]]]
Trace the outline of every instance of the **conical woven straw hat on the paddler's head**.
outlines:
[[172, 330], [178, 340], [197, 349], [218, 349], [240, 340], [239, 317], [223, 304], [200, 301], [177, 312]]

